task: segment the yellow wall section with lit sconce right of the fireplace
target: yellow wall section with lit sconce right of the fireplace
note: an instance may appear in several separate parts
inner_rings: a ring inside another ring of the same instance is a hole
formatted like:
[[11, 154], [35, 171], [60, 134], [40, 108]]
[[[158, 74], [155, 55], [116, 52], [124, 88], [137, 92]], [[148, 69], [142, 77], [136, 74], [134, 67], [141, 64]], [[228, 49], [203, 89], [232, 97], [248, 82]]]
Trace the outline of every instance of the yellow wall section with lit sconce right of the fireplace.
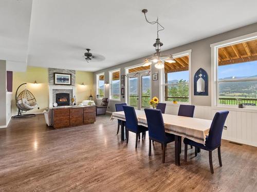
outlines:
[[[82, 86], [84, 82], [85, 86]], [[77, 103], [81, 103], [82, 100], [88, 100], [90, 90], [94, 94], [94, 73], [86, 71], [76, 71], [76, 95]], [[95, 95], [94, 95], [95, 98]]]

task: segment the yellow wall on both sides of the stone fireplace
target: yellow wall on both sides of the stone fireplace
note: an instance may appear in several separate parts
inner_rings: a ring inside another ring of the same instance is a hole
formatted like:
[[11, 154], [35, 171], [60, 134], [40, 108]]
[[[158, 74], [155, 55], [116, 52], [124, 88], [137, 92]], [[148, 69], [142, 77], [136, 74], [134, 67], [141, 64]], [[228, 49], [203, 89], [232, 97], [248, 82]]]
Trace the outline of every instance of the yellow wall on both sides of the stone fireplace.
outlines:
[[[36, 80], [37, 84], [33, 82]], [[76, 95], [77, 103], [88, 99], [90, 89], [94, 93], [94, 74], [92, 72], [76, 71]], [[27, 67], [26, 72], [13, 72], [13, 94], [12, 94], [12, 114], [17, 114], [15, 105], [15, 92], [20, 84], [27, 82], [27, 89], [35, 96], [38, 108], [29, 111], [28, 113], [42, 113], [45, 108], [49, 107], [49, 87], [48, 87], [48, 68]], [[84, 82], [85, 86], [81, 83]], [[18, 94], [25, 89], [22, 86]]]

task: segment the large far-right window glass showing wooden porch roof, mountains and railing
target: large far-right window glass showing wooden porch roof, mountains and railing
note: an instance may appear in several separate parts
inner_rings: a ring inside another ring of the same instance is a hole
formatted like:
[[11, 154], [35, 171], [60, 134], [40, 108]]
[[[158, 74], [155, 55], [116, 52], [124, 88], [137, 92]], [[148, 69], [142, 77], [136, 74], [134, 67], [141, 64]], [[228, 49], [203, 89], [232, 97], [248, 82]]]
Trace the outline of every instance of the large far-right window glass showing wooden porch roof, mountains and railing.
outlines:
[[217, 105], [257, 105], [257, 39], [217, 48]]

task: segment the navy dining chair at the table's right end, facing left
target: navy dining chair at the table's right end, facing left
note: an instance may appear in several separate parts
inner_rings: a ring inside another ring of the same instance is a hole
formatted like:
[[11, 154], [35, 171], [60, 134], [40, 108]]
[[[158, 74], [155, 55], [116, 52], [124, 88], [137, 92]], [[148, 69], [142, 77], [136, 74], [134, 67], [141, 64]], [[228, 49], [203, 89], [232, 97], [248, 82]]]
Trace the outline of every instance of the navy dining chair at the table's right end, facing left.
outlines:
[[228, 116], [228, 111], [217, 112], [212, 120], [209, 135], [206, 137], [205, 145], [197, 143], [188, 138], [185, 138], [183, 142], [185, 143], [185, 162], [187, 162], [187, 151], [188, 145], [193, 145], [195, 147], [201, 148], [203, 150], [209, 151], [209, 162], [211, 173], [213, 174], [213, 165], [212, 165], [212, 151], [218, 148], [218, 162], [219, 166], [222, 166], [222, 157], [221, 157], [221, 140], [222, 140], [222, 131]]

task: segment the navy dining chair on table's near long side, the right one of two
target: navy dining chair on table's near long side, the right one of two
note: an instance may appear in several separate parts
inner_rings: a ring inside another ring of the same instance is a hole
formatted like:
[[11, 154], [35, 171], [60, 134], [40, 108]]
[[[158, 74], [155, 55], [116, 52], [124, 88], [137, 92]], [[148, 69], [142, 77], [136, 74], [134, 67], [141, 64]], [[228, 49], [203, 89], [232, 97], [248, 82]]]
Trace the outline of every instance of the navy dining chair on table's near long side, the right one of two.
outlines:
[[162, 148], [162, 163], [165, 162], [165, 151], [167, 143], [175, 140], [175, 136], [170, 133], [165, 133], [161, 110], [144, 109], [149, 133], [149, 156], [151, 156], [151, 140], [161, 143]]

